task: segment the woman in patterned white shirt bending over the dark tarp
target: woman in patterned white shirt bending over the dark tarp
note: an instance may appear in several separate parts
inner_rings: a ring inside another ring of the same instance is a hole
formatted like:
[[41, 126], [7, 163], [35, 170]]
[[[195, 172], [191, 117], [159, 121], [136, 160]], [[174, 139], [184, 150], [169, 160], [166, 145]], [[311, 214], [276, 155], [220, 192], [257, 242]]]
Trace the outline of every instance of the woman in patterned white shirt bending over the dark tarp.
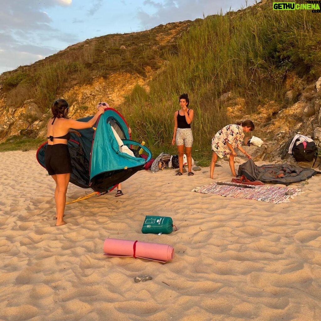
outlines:
[[251, 120], [244, 120], [236, 124], [227, 125], [219, 130], [212, 138], [212, 161], [210, 166], [210, 178], [213, 178], [215, 163], [217, 158], [223, 158], [225, 155], [229, 158], [229, 165], [232, 176], [236, 177], [234, 168], [234, 157], [237, 155], [234, 148], [238, 148], [248, 158], [252, 158], [242, 147], [244, 133], [254, 130], [254, 124]]

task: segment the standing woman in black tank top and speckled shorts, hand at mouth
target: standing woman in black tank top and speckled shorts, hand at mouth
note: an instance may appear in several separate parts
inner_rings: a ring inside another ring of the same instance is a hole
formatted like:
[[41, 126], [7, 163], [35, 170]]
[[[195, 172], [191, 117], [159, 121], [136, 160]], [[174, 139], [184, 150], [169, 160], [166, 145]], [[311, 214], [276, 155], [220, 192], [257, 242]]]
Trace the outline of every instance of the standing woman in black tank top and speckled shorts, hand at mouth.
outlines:
[[172, 145], [176, 143], [178, 150], [178, 165], [179, 171], [176, 176], [183, 175], [183, 157], [184, 146], [187, 157], [188, 176], [194, 175], [192, 172], [192, 144], [193, 133], [191, 129], [191, 122], [194, 117], [194, 110], [189, 109], [189, 98], [187, 94], [182, 94], [178, 98], [180, 110], [174, 113], [174, 134]]

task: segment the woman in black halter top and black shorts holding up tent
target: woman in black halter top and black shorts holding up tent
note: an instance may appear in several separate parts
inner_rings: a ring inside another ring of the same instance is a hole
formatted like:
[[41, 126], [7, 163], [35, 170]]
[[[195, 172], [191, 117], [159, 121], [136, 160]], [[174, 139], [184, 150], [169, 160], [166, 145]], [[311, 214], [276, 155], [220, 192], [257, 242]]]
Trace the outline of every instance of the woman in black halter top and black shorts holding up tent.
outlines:
[[[64, 99], [57, 99], [51, 104], [53, 117], [47, 125], [48, 145], [45, 151], [45, 165], [48, 174], [56, 182], [56, 226], [64, 225], [64, 212], [66, 204], [67, 187], [72, 173], [70, 153], [67, 142], [70, 133], [78, 133], [74, 129], [84, 129], [94, 126], [98, 117], [104, 113], [104, 108], [99, 107], [96, 115], [88, 122], [81, 122], [68, 117], [69, 104]], [[78, 133], [78, 135], [80, 135]]]

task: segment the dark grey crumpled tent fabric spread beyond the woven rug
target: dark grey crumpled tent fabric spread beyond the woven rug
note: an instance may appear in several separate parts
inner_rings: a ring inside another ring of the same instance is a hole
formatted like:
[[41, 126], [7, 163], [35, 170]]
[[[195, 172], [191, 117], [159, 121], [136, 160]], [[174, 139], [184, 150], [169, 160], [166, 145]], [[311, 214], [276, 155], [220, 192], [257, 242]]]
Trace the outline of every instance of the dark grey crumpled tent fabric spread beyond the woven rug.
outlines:
[[256, 166], [251, 159], [241, 164], [238, 171], [238, 176], [245, 175], [251, 181], [259, 180], [263, 183], [284, 185], [301, 182], [316, 174], [321, 174], [321, 172], [290, 164]]

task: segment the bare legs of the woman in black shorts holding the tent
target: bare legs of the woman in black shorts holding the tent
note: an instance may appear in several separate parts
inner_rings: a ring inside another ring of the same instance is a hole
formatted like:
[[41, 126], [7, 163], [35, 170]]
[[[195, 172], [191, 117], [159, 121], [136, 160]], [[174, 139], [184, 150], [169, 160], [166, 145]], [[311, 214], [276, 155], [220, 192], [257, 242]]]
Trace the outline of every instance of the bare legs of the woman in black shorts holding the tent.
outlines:
[[66, 194], [67, 187], [69, 184], [70, 173], [67, 174], [57, 174], [56, 176], [56, 191], [55, 191], [55, 200], [56, 200], [56, 211], [57, 211], [57, 222], [56, 226], [64, 225], [64, 212], [66, 205]]

